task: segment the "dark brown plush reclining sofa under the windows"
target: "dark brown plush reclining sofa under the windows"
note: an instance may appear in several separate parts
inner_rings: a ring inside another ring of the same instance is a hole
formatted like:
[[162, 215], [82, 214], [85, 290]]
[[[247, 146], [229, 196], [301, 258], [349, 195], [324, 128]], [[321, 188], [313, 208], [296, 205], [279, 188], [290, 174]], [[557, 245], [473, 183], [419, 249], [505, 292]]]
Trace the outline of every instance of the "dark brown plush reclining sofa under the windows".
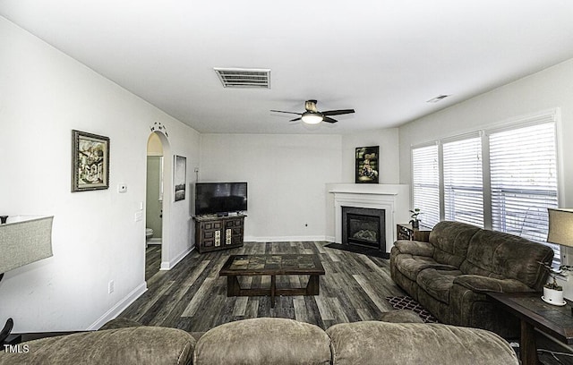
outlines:
[[429, 242], [397, 241], [390, 251], [392, 279], [440, 320], [517, 337], [517, 318], [499, 310], [488, 292], [541, 291], [549, 247], [508, 233], [444, 221]]

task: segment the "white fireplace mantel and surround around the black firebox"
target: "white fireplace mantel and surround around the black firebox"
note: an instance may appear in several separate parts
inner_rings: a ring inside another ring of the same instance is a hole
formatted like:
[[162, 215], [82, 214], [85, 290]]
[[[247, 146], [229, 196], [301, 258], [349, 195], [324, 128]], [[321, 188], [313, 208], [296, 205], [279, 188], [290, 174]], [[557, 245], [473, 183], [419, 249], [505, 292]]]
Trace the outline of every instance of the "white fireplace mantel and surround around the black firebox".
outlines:
[[342, 207], [385, 210], [386, 252], [396, 241], [396, 225], [409, 220], [410, 187], [398, 184], [333, 184], [335, 242], [342, 242]]

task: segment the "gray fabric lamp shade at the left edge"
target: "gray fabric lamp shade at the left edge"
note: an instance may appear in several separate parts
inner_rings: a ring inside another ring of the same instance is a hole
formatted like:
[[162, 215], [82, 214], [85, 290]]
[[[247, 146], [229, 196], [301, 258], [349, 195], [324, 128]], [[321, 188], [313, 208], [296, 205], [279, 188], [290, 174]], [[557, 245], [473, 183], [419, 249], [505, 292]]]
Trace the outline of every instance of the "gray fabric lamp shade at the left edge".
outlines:
[[0, 274], [53, 255], [53, 220], [54, 216], [14, 216], [0, 225]]

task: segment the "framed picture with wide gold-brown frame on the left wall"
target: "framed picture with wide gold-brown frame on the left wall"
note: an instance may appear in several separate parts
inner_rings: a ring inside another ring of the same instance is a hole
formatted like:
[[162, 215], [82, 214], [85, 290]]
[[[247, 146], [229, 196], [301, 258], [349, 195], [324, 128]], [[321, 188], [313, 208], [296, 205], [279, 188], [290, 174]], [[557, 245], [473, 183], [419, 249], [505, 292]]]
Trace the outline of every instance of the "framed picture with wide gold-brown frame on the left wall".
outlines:
[[109, 188], [109, 138], [72, 131], [72, 192]]

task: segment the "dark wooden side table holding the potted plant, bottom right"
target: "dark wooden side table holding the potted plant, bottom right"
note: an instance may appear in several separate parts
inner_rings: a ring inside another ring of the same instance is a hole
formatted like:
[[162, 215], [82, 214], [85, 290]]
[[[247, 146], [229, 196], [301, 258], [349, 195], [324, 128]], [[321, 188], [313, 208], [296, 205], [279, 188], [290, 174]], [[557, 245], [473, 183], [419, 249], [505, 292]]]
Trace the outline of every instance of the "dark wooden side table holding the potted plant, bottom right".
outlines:
[[573, 315], [567, 301], [564, 306], [555, 306], [542, 301], [542, 293], [487, 293], [487, 296], [503, 310], [507, 310], [521, 322], [519, 353], [523, 365], [538, 363], [535, 344], [535, 328], [564, 344], [573, 344]]

